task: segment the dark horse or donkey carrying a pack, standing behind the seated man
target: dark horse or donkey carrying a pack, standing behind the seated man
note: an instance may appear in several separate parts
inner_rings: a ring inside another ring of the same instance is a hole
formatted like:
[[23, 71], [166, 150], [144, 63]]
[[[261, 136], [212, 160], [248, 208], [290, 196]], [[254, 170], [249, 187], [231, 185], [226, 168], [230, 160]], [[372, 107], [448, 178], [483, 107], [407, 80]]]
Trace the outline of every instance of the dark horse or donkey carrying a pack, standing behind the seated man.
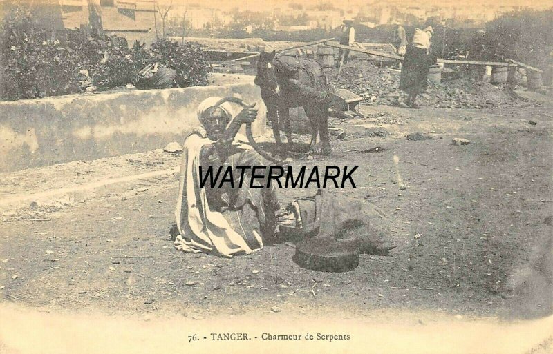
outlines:
[[261, 98], [267, 106], [267, 118], [272, 122], [274, 140], [282, 144], [280, 123], [292, 144], [289, 108], [303, 107], [311, 124], [310, 150], [317, 150], [317, 135], [321, 137], [323, 155], [330, 155], [328, 137], [328, 84], [316, 61], [291, 56], [275, 58], [275, 52], [261, 52], [254, 83], [261, 88]]

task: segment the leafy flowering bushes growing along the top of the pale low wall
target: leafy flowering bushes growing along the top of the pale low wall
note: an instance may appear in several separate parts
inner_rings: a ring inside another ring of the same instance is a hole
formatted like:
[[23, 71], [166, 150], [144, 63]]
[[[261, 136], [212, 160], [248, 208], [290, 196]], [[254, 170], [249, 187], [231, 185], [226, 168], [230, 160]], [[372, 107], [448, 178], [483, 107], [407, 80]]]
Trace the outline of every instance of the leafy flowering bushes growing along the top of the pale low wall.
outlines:
[[[176, 86], [205, 86], [207, 55], [198, 43], [162, 39], [151, 49], [105, 38], [88, 39], [79, 30], [67, 30], [66, 42], [47, 40], [32, 26], [32, 10], [13, 5], [0, 30], [0, 99], [32, 99], [82, 92], [91, 81], [100, 90], [135, 83], [138, 71], [158, 61], [177, 72]], [[49, 36], [48, 36], [49, 37]], [[87, 78], [88, 76], [88, 78]]]

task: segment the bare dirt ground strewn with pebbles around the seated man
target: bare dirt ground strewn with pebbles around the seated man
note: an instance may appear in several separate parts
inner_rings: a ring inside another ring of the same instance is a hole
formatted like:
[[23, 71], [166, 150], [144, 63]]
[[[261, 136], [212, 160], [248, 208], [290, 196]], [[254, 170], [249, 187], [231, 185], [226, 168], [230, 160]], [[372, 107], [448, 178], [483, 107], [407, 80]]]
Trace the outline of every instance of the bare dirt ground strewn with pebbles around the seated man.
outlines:
[[[102, 196], [55, 206], [26, 201], [25, 207], [2, 210], [1, 302], [193, 319], [317, 317], [329, 311], [348, 319], [382, 309], [465, 318], [549, 315], [551, 108], [364, 106], [365, 119], [333, 119], [331, 125], [348, 134], [332, 138], [333, 155], [294, 164], [359, 166], [356, 189], [328, 192], [384, 210], [397, 245], [389, 257], [361, 255], [354, 271], [299, 268], [292, 262], [294, 248], [284, 244], [233, 259], [176, 250], [169, 227], [178, 174], [168, 173]], [[431, 139], [406, 139], [416, 132]], [[457, 137], [471, 142], [452, 145]], [[375, 146], [384, 150], [364, 153]], [[78, 186], [82, 174], [142, 173], [177, 168], [178, 161], [178, 154], [156, 150], [44, 169], [49, 174], [5, 173], [0, 193]], [[64, 177], [49, 186], [58, 169]], [[281, 190], [283, 201], [313, 192]]]

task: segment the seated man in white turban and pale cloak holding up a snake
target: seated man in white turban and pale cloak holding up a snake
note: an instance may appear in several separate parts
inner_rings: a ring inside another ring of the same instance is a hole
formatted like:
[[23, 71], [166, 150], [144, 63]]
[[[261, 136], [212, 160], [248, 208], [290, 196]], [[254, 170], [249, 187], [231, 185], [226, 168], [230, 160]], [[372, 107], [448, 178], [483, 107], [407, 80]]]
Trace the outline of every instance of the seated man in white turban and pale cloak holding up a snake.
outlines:
[[[263, 242], [274, 235], [279, 204], [275, 187], [200, 188], [200, 166], [235, 169], [236, 166], [269, 166], [243, 135], [241, 124], [251, 123], [257, 117], [256, 108], [245, 108], [237, 115], [236, 125], [231, 121], [229, 103], [214, 106], [221, 99], [209, 97], [198, 107], [201, 126], [194, 129], [183, 146], [179, 196], [176, 206], [178, 235], [174, 245], [192, 253], [213, 253], [223, 257], [250, 254], [263, 248]], [[224, 169], [223, 169], [224, 170]], [[236, 171], [235, 171], [236, 172]], [[246, 172], [247, 173], [247, 172]], [[233, 173], [239, 177], [241, 172]]]

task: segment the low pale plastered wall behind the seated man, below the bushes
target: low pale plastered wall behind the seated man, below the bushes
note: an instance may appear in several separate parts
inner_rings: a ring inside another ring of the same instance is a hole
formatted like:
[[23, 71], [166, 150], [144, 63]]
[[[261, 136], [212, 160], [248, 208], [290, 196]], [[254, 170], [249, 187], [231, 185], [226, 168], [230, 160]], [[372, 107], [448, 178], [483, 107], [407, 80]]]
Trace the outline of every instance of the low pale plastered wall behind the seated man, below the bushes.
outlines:
[[199, 124], [198, 104], [210, 96], [258, 102], [252, 130], [261, 134], [266, 109], [259, 92], [253, 83], [241, 83], [0, 102], [0, 172], [182, 144]]

